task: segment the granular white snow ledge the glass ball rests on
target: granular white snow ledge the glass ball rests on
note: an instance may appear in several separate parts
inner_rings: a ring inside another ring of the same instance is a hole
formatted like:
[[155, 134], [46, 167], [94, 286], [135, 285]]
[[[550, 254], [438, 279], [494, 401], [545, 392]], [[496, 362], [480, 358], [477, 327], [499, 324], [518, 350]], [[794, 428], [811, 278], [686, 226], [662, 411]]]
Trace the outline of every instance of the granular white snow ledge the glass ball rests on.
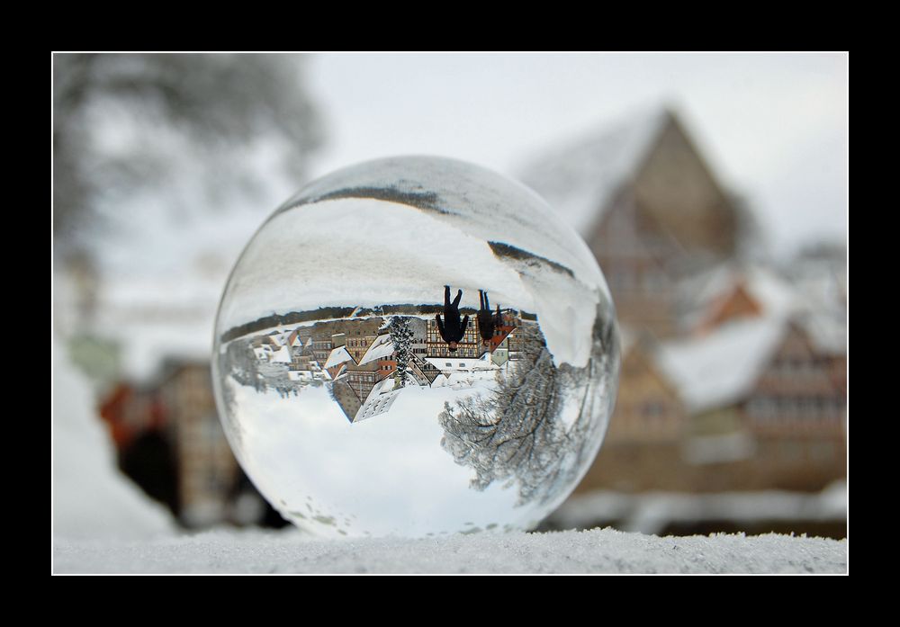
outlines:
[[847, 542], [786, 535], [665, 537], [613, 529], [311, 541], [214, 531], [148, 541], [57, 540], [57, 573], [845, 573]]

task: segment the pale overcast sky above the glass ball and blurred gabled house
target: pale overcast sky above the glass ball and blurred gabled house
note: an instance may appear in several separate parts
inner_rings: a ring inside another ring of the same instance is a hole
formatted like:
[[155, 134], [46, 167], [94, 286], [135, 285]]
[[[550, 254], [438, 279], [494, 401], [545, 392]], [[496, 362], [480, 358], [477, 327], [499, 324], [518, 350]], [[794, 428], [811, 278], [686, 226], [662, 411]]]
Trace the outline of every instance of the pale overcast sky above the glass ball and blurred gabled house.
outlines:
[[435, 154], [516, 175], [542, 148], [669, 103], [780, 249], [847, 232], [845, 54], [326, 54], [314, 176]]

